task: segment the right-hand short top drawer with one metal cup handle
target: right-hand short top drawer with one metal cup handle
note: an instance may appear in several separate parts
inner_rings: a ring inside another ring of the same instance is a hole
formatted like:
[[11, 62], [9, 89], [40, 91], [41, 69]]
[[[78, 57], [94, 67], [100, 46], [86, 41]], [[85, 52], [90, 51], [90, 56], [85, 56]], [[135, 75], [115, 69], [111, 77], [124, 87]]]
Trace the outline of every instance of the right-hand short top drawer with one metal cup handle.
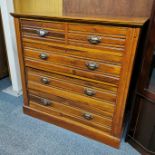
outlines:
[[87, 48], [124, 52], [127, 28], [69, 23], [68, 43]]

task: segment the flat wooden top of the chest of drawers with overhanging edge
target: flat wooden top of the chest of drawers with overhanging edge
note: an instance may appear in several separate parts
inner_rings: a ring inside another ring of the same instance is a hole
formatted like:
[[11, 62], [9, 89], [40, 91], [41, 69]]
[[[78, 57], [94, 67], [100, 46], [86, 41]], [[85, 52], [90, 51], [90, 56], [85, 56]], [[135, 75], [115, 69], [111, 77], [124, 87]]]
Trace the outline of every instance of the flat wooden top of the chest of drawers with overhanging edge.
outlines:
[[85, 15], [85, 14], [57, 14], [55, 12], [16, 12], [11, 13], [16, 18], [30, 18], [43, 20], [59, 20], [59, 21], [74, 21], [74, 22], [89, 22], [100, 24], [112, 24], [122, 26], [141, 27], [148, 21], [147, 17], [111, 17], [102, 15]]

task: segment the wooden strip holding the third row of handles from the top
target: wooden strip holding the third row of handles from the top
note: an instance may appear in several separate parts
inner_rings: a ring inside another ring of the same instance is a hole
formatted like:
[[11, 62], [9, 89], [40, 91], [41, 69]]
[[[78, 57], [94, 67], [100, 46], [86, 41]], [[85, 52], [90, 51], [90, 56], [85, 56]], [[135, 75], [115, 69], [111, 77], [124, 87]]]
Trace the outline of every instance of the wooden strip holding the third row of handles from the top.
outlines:
[[111, 92], [105, 89], [92, 87], [91, 85], [83, 85], [78, 80], [72, 78], [71, 80], [61, 75], [47, 74], [42, 71], [27, 69], [27, 79], [32, 82], [37, 82], [49, 87], [65, 90], [87, 96], [89, 98], [108, 101], [113, 104], [116, 102], [116, 92]]

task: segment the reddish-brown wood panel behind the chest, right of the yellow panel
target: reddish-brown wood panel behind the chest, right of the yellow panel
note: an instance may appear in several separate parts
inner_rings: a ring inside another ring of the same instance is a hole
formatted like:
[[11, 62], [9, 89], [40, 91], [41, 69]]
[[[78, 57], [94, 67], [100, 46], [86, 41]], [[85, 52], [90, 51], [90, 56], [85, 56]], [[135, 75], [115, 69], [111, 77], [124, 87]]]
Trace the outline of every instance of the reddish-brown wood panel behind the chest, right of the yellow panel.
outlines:
[[153, 0], [63, 0], [63, 14], [149, 17]]

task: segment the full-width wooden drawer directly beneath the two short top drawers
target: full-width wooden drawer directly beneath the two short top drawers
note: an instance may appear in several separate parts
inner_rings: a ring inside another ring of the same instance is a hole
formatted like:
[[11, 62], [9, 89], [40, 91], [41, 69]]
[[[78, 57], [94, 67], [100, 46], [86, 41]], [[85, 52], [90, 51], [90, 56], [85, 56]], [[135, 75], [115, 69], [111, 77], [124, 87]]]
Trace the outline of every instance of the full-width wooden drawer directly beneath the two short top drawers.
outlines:
[[116, 87], [119, 83], [120, 66], [92, 61], [91, 59], [61, 56], [50, 52], [30, 49], [24, 51], [26, 66], [102, 81]]

